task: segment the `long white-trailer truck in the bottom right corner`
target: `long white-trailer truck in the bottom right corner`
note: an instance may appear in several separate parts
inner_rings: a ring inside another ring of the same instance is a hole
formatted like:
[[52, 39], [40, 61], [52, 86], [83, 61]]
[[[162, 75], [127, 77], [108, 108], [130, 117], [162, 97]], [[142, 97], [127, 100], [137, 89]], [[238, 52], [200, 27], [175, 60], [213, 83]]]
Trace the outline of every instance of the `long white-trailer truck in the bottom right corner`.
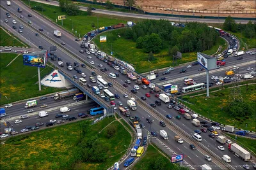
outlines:
[[228, 145], [228, 150], [235, 155], [237, 155], [240, 159], [244, 161], [249, 161], [251, 159], [251, 153], [247, 150], [244, 150], [241, 146], [237, 145], [237, 143], [231, 143]]

